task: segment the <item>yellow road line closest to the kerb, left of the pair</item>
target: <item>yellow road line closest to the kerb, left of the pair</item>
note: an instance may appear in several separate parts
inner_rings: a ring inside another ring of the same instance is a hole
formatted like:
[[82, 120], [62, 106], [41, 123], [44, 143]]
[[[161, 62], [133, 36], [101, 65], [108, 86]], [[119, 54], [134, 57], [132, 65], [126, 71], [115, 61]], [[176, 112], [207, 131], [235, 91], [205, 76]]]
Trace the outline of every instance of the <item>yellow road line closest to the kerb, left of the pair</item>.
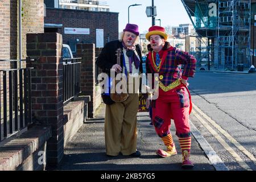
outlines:
[[[194, 106], [195, 106], [195, 105], [193, 105], [193, 107], [194, 107]], [[242, 160], [242, 158], [240, 158], [240, 156], [233, 150], [233, 148], [231, 148], [231, 147], [229, 146], [229, 144], [226, 143], [225, 140], [222, 139], [222, 138], [220, 137], [220, 135], [218, 135], [218, 133], [217, 133], [216, 131], [214, 131], [214, 130], [212, 129], [212, 127], [210, 127], [210, 126], [208, 125], [208, 123], [204, 121], [204, 119], [203, 119], [202, 117], [200, 117], [199, 114], [195, 113], [195, 111], [193, 111], [193, 114], [195, 115], [195, 117], [196, 117], [197, 119], [199, 119], [199, 121], [205, 126], [205, 128], [207, 128], [207, 130], [213, 135], [213, 137], [215, 137], [215, 138], [218, 140], [218, 142], [220, 142], [220, 144], [237, 160], [238, 164], [239, 164], [242, 168], [246, 169], [247, 171], [253, 171], [253, 169], [251, 169], [251, 168]]]

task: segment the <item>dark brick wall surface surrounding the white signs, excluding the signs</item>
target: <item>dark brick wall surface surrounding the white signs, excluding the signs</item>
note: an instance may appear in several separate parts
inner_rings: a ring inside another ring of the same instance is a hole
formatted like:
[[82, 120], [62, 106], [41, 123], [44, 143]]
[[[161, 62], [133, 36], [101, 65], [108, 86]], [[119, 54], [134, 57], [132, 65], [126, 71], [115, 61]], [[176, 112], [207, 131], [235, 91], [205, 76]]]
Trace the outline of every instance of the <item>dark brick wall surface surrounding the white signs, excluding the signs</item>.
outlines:
[[[63, 34], [63, 43], [79, 39], [79, 43], [96, 43], [96, 28], [104, 29], [104, 44], [118, 39], [118, 13], [70, 9], [46, 9], [44, 23], [63, 24], [58, 33]], [[64, 34], [64, 27], [89, 28], [90, 35]]]

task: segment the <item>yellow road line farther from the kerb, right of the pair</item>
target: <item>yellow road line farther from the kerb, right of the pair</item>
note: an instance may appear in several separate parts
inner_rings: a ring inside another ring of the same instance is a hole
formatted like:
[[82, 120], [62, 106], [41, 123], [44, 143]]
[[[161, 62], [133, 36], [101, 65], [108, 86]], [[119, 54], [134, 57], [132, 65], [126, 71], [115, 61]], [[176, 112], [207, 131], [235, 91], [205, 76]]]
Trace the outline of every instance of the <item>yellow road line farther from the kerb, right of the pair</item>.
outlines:
[[241, 152], [243, 152], [243, 154], [247, 155], [248, 158], [251, 159], [256, 165], [256, 158], [254, 157], [253, 154], [251, 154], [251, 152], [247, 151], [245, 147], [243, 147], [240, 143], [238, 143], [237, 140], [234, 139], [228, 132], [223, 130], [220, 125], [218, 125], [215, 121], [210, 119], [208, 115], [204, 114], [203, 111], [201, 111], [197, 106], [193, 105], [193, 108], [195, 108], [195, 110], [199, 114], [203, 115], [203, 117], [207, 119], [207, 121], [209, 121], [214, 127], [216, 127], [216, 129], [220, 131], [220, 133], [222, 133], [230, 142], [234, 144], [234, 146], [236, 146]]

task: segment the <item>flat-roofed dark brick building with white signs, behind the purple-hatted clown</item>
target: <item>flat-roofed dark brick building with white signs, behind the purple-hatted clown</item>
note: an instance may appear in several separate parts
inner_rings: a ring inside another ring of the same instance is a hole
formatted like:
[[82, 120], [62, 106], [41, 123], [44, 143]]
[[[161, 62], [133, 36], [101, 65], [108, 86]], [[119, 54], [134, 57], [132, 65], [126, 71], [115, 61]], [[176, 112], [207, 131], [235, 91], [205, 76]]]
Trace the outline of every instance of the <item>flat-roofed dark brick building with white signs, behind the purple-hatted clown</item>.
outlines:
[[[80, 32], [72, 32], [72, 29]], [[101, 34], [97, 34], [98, 30]], [[103, 47], [118, 39], [118, 13], [47, 8], [44, 31], [62, 34], [63, 43], [69, 44], [72, 52], [76, 52], [77, 43], [95, 43], [96, 47]]]

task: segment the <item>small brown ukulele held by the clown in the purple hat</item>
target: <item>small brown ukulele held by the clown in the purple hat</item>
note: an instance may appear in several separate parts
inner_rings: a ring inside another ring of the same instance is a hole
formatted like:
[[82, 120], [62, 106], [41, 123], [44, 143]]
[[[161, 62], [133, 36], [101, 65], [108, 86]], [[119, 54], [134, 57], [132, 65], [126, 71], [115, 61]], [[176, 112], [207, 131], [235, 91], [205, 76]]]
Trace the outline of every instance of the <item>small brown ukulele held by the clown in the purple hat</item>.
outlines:
[[[117, 51], [115, 51], [117, 55], [117, 64], [121, 65], [120, 64], [120, 57], [122, 55], [122, 49], [121, 48], [118, 48]], [[120, 73], [120, 71], [117, 71], [117, 74]], [[123, 78], [122, 78], [123, 79]], [[127, 100], [129, 94], [127, 93], [127, 84], [125, 85], [121, 85], [121, 86], [118, 86], [118, 88], [115, 88], [115, 85], [118, 84], [118, 82], [120, 82], [121, 80], [115, 80], [113, 79], [113, 86], [111, 88], [111, 92], [110, 92], [110, 98], [115, 101], [115, 102], [123, 102], [125, 100]], [[124, 86], [124, 88], [123, 88]], [[125, 90], [126, 93], [122, 93], [121, 91], [122, 90]]]

